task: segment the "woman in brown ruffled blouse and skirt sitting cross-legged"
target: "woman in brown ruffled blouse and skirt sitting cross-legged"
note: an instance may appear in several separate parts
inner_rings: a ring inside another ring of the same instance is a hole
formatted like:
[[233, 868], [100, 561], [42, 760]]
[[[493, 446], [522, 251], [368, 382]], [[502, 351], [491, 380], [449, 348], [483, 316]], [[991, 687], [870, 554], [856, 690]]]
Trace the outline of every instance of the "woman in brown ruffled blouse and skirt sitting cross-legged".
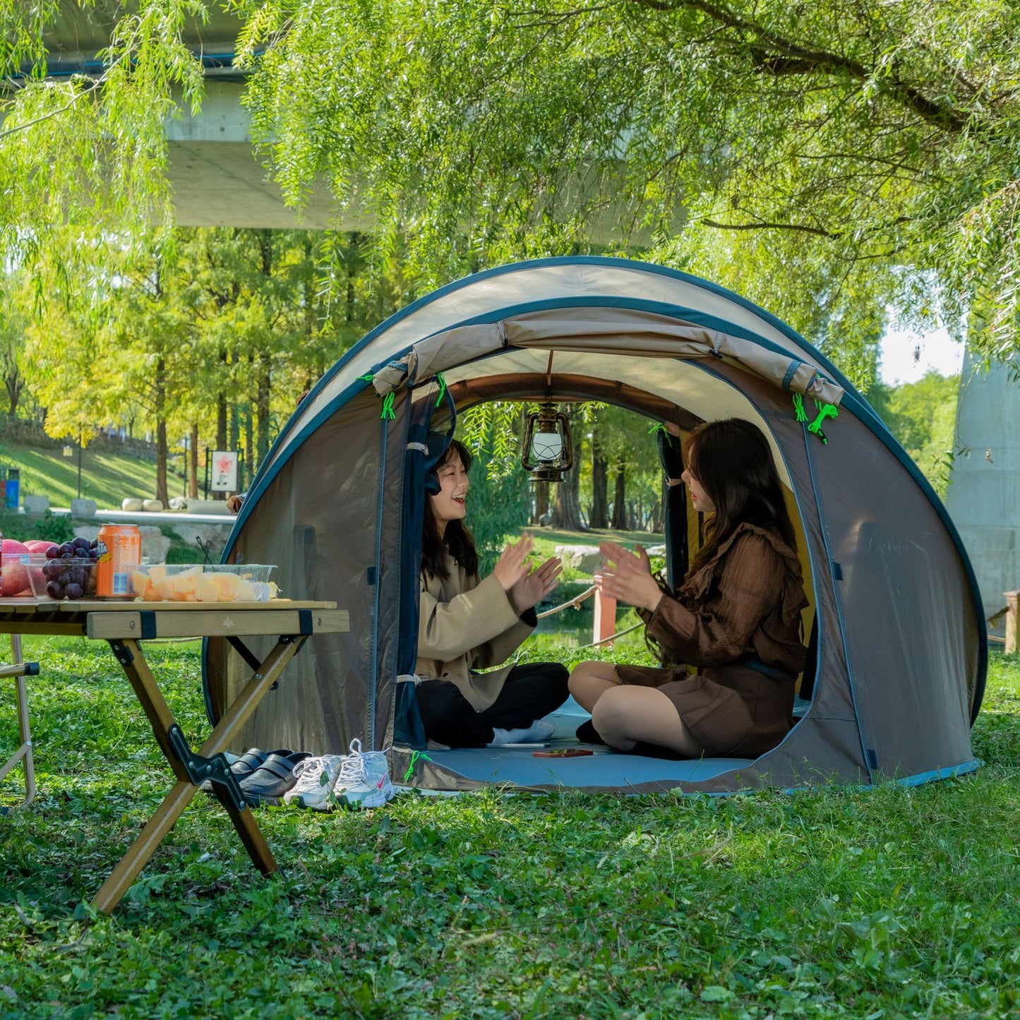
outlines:
[[638, 609], [664, 668], [579, 663], [570, 692], [592, 723], [578, 736], [665, 757], [756, 758], [793, 725], [804, 668], [794, 526], [768, 441], [750, 421], [701, 425], [684, 461], [691, 501], [709, 516], [676, 593], [660, 589], [640, 546], [599, 547], [607, 568], [596, 582]]

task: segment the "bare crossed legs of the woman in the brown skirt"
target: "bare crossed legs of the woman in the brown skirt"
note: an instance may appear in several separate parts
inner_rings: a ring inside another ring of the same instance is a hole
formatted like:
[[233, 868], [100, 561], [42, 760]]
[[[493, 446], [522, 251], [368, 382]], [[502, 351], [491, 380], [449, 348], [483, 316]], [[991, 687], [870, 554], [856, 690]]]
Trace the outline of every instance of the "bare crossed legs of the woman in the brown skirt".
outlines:
[[592, 713], [592, 724], [610, 747], [631, 751], [643, 742], [688, 758], [704, 754], [661, 691], [620, 683], [612, 663], [578, 663], [570, 674], [569, 686], [577, 704]]

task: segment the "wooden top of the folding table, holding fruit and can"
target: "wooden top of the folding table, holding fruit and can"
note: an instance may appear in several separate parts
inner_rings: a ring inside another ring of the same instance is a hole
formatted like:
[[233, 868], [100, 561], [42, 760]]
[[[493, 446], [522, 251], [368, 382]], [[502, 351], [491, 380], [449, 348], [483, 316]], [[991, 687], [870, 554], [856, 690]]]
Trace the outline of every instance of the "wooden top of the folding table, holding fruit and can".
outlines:
[[349, 627], [347, 610], [338, 609], [335, 602], [0, 599], [0, 633], [80, 633], [110, 641], [346, 633]]

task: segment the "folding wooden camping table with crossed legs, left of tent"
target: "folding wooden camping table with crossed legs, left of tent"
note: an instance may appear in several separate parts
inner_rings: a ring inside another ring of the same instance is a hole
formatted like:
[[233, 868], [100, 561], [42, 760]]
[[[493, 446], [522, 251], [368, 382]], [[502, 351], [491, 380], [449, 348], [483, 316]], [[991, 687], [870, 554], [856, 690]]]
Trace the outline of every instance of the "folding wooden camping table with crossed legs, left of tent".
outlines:
[[[0, 600], [0, 633], [84, 634], [108, 642], [145, 710], [156, 743], [176, 776], [173, 788], [96, 894], [93, 907], [106, 914], [113, 910], [188, 807], [198, 792], [199, 783], [205, 779], [211, 780], [216, 798], [231, 816], [255, 866], [263, 874], [277, 869], [265, 837], [245, 805], [244, 794], [230, 770], [223, 752], [309, 636], [315, 633], [344, 633], [347, 630], [347, 611], [337, 609], [334, 602], [291, 602], [284, 599], [230, 603]], [[275, 645], [261, 660], [243, 641], [244, 638], [257, 635], [277, 638]], [[153, 638], [188, 640], [213, 636], [230, 642], [249, 665], [252, 675], [208, 738], [195, 752], [174, 721], [145, 660], [142, 642]]]

